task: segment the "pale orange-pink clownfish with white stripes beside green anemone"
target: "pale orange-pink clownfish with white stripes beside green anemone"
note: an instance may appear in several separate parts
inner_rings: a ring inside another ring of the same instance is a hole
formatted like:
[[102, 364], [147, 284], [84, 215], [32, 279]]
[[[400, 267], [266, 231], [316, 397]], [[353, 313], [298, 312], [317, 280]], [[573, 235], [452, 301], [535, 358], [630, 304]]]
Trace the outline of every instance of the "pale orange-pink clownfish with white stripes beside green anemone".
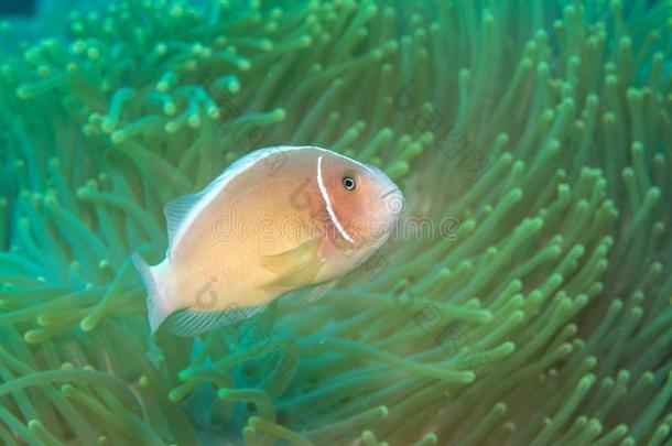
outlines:
[[161, 263], [133, 254], [151, 331], [195, 336], [283, 295], [314, 301], [389, 239], [402, 208], [378, 167], [317, 146], [253, 151], [167, 203]]

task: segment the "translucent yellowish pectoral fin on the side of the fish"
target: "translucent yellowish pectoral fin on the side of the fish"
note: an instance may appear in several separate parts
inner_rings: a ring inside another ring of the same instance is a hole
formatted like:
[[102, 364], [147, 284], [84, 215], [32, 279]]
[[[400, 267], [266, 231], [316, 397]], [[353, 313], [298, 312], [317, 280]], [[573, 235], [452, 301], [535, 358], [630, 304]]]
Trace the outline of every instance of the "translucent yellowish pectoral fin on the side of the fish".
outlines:
[[324, 260], [319, 258], [321, 240], [311, 239], [289, 251], [265, 255], [261, 265], [278, 274], [268, 286], [302, 286], [315, 281]]

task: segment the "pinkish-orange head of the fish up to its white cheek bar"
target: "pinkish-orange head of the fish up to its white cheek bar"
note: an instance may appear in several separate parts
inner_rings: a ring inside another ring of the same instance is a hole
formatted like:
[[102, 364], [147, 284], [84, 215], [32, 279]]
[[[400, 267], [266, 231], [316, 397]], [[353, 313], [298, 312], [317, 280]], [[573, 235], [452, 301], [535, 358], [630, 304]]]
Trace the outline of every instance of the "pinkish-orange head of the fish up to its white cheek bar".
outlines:
[[356, 244], [384, 241], [403, 209], [400, 188], [382, 170], [345, 156], [323, 160], [321, 170], [339, 236]]

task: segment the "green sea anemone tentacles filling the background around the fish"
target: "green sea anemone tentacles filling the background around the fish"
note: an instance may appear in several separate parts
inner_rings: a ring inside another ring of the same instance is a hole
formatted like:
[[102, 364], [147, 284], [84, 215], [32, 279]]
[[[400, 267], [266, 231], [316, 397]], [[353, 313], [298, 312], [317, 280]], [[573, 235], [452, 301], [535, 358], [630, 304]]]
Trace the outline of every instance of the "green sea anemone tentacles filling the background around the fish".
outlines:
[[[672, 445], [672, 2], [10, 3], [0, 444]], [[131, 253], [277, 144], [383, 168], [410, 236], [150, 337]]]

